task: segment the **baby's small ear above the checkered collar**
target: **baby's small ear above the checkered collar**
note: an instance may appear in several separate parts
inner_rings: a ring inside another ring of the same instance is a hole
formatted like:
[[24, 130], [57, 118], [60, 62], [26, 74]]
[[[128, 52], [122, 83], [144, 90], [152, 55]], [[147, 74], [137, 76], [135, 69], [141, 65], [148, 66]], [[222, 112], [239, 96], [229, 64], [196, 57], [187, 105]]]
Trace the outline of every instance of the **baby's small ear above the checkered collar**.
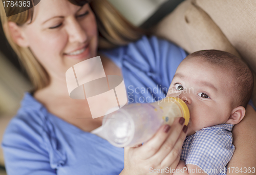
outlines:
[[244, 118], [244, 115], [245, 115], [245, 108], [243, 106], [238, 106], [231, 111], [231, 114], [226, 123], [238, 124]]

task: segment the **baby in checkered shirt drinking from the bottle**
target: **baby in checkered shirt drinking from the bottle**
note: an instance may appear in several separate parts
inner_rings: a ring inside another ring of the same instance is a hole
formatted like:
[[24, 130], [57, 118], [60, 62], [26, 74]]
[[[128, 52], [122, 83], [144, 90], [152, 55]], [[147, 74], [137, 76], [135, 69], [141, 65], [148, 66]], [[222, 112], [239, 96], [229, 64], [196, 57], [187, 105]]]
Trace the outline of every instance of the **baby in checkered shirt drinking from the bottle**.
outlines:
[[252, 88], [249, 68], [230, 53], [198, 51], [180, 63], [167, 96], [181, 93], [190, 121], [174, 174], [226, 174], [231, 130], [243, 119]]

